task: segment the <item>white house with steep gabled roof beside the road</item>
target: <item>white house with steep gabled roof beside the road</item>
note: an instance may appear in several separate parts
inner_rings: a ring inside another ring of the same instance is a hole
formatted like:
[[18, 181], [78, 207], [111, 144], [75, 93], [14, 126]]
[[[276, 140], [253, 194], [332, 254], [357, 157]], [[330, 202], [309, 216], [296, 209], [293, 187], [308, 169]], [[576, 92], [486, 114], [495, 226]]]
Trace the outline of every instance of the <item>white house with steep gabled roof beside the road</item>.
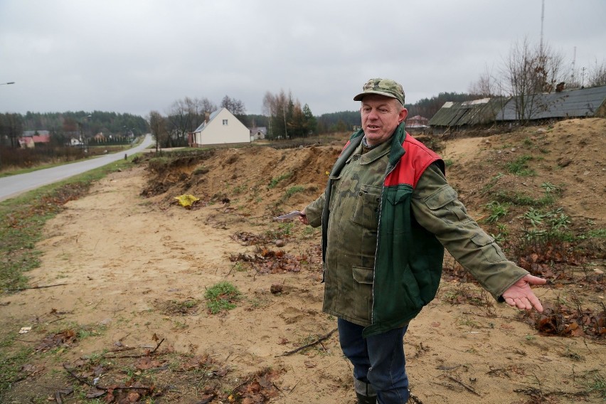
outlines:
[[191, 147], [250, 144], [250, 130], [227, 108], [208, 115], [191, 135]]

